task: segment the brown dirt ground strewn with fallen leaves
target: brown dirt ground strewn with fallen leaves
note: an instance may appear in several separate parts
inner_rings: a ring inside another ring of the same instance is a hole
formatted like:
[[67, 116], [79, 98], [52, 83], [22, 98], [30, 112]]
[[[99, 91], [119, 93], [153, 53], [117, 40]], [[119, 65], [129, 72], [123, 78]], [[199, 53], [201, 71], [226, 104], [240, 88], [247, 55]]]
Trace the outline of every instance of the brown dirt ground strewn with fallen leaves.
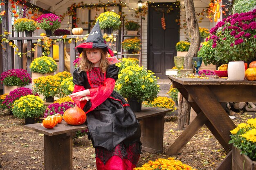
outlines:
[[[234, 123], [245, 122], [256, 113], [243, 113]], [[164, 153], [182, 133], [176, 131], [177, 117], [166, 116], [164, 123]], [[0, 110], [0, 169], [42, 170], [44, 169], [43, 134], [24, 128], [24, 120], [15, 118], [8, 111]], [[227, 155], [215, 137], [203, 126], [178, 155], [142, 151], [137, 167], [157, 158], [177, 157], [198, 170], [213, 170]], [[57, 158], [61, 159], [61, 158]], [[96, 170], [94, 148], [88, 137], [73, 141], [73, 169]]]

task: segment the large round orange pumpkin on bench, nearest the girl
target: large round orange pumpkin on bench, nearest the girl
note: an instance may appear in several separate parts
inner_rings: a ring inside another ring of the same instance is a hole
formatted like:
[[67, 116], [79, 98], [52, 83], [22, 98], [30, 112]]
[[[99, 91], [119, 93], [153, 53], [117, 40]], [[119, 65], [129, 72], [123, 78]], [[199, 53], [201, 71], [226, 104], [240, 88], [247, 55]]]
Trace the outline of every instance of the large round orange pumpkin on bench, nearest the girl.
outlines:
[[67, 124], [70, 125], [80, 125], [83, 124], [86, 120], [85, 112], [79, 107], [75, 106], [70, 109], [67, 109], [63, 114], [63, 119]]

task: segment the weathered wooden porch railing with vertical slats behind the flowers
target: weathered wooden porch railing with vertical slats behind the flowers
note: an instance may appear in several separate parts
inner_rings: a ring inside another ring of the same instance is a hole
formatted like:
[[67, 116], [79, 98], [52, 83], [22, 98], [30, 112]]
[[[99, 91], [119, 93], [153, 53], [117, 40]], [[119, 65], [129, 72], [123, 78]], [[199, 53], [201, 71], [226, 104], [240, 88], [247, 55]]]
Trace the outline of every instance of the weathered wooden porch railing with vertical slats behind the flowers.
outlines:
[[[63, 36], [50, 36], [49, 39], [57, 40], [56, 41], [58, 43], [59, 46], [59, 72], [63, 72], [65, 70], [65, 44], [69, 44], [69, 48], [70, 48], [70, 73], [73, 74], [74, 72], [74, 66], [73, 66], [73, 61], [76, 59], [76, 57], [78, 57], [78, 53], [75, 50], [75, 47], [77, 45], [79, 45], [80, 43], [83, 43], [83, 41], [77, 41], [76, 42], [76, 38], [78, 37], [79, 39], [82, 39], [85, 35], [69, 35], [67, 36], [67, 39], [64, 40]], [[19, 52], [22, 52], [23, 46], [25, 44], [25, 41], [27, 41], [27, 49], [25, 50], [25, 52], [31, 50], [31, 48], [34, 48], [34, 44], [37, 43], [37, 39], [43, 39], [43, 37], [10, 37], [9, 40], [12, 41], [13, 43], [15, 42], [15, 44], [18, 46]], [[71, 42], [68, 43], [68, 39], [71, 39]], [[65, 43], [64, 43], [65, 41]], [[27, 53], [27, 55], [23, 55], [22, 57], [19, 57], [18, 54], [14, 54], [14, 49], [11, 48], [11, 46], [7, 45], [6, 46], [6, 50], [3, 50], [3, 71], [7, 71], [9, 69], [12, 68], [23, 68], [22, 65], [22, 58], [26, 57], [27, 59], [27, 72], [31, 75], [31, 70], [29, 68], [29, 65], [31, 63], [31, 61], [34, 59], [34, 57], [40, 57], [42, 56], [42, 52], [45, 51], [43, 50], [43, 42], [39, 42], [40, 46], [37, 46], [37, 56], [34, 56], [33, 53], [29, 52]], [[50, 54], [48, 55], [49, 57], [53, 57], [54, 55], [54, 50], [53, 50], [53, 45], [50, 46], [49, 48]], [[14, 60], [14, 62], [12, 61]], [[14, 63], [14, 67], [13, 64]]]

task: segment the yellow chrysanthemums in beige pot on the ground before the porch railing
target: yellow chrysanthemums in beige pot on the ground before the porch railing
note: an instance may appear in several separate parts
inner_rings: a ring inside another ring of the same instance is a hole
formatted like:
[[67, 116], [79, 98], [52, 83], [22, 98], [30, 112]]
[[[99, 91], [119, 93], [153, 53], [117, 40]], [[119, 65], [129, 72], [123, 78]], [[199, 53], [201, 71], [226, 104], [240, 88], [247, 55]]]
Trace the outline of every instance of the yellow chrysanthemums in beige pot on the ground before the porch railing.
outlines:
[[34, 59], [29, 65], [32, 72], [32, 85], [34, 84], [34, 79], [38, 77], [54, 75], [57, 66], [56, 61], [52, 57], [42, 56]]

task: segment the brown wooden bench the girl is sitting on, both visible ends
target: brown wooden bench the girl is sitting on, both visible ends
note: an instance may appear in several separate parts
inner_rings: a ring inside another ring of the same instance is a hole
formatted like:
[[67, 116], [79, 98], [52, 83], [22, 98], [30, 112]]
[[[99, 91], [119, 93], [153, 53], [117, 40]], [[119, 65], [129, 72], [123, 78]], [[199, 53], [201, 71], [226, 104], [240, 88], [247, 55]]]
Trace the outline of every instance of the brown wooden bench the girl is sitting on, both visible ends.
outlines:
[[[142, 149], [162, 153], [164, 116], [171, 109], [143, 107], [135, 112], [141, 124]], [[72, 133], [86, 130], [85, 124], [68, 125], [64, 120], [53, 129], [46, 129], [41, 123], [24, 125], [26, 129], [44, 134], [45, 170], [72, 170]]]

